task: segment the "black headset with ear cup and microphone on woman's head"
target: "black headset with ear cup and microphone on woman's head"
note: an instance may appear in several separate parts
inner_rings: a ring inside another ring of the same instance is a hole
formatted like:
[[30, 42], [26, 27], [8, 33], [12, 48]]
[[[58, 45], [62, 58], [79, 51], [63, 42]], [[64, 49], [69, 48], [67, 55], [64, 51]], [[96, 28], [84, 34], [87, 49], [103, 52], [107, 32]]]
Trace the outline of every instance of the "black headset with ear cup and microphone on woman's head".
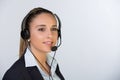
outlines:
[[[43, 9], [43, 8], [37, 8], [38, 11], [41, 11], [41, 13], [44, 13], [44, 12], [50, 12], [52, 13], [51, 11], [46, 11], [46, 9]], [[35, 11], [35, 10], [34, 10]], [[43, 11], [43, 12], [42, 12]], [[29, 24], [28, 24], [28, 20], [30, 19], [30, 16], [31, 14], [33, 14], [33, 11], [30, 11], [23, 19], [22, 21], [22, 24], [21, 24], [21, 37], [23, 40], [28, 40], [30, 38], [30, 31], [29, 31]], [[40, 13], [38, 13], [39, 15]], [[53, 13], [52, 13], [53, 14]], [[56, 18], [57, 22], [58, 22], [58, 39], [60, 40], [59, 41], [59, 45], [57, 44], [57, 46], [53, 46], [51, 48], [52, 51], [56, 51], [57, 48], [61, 45], [62, 41], [61, 41], [61, 21], [60, 21], [60, 18], [56, 15], [56, 14], [53, 14], [54, 17]]]

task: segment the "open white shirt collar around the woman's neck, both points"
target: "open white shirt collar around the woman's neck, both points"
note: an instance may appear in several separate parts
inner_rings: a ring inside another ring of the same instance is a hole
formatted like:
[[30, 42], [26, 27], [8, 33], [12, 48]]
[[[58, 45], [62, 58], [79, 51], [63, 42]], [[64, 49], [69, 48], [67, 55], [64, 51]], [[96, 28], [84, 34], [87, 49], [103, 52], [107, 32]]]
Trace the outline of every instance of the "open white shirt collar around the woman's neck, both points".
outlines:
[[[52, 66], [51, 66], [52, 62]], [[54, 75], [56, 68], [57, 68], [57, 61], [56, 59], [53, 60], [51, 55], [47, 55], [47, 63], [49, 66], [51, 66], [51, 74]], [[25, 66], [26, 67], [32, 67], [32, 66], [37, 66], [38, 69], [40, 68], [35, 57], [32, 55], [30, 50], [27, 48], [26, 53], [25, 53]]]

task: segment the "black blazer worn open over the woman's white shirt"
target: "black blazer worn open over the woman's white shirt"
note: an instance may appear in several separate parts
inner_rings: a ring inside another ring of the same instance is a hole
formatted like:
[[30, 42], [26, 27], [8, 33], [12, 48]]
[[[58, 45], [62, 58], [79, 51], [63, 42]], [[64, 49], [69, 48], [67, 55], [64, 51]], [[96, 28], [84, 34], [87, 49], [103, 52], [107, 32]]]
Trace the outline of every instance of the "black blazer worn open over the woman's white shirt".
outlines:
[[[57, 65], [56, 74], [65, 80]], [[25, 67], [24, 55], [5, 73], [2, 80], [44, 80], [36, 66]]]

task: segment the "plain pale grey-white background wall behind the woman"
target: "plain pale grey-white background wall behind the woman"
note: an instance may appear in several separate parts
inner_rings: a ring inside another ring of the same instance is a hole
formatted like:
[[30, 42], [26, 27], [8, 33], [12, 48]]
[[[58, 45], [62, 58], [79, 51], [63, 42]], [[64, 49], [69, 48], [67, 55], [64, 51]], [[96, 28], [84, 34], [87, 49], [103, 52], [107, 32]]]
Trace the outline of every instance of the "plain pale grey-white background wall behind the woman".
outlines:
[[120, 0], [0, 0], [0, 80], [18, 59], [21, 21], [34, 7], [61, 18], [56, 59], [66, 80], [120, 80]]

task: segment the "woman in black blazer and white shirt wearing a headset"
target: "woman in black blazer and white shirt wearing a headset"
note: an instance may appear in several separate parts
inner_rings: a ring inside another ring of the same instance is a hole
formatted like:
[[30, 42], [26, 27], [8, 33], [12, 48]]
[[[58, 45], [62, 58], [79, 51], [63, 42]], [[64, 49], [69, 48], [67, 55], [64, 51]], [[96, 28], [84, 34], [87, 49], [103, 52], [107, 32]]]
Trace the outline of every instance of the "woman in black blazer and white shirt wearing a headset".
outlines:
[[60, 46], [58, 16], [47, 9], [34, 8], [23, 19], [21, 27], [20, 58], [3, 80], [65, 80], [57, 61], [48, 54]]

